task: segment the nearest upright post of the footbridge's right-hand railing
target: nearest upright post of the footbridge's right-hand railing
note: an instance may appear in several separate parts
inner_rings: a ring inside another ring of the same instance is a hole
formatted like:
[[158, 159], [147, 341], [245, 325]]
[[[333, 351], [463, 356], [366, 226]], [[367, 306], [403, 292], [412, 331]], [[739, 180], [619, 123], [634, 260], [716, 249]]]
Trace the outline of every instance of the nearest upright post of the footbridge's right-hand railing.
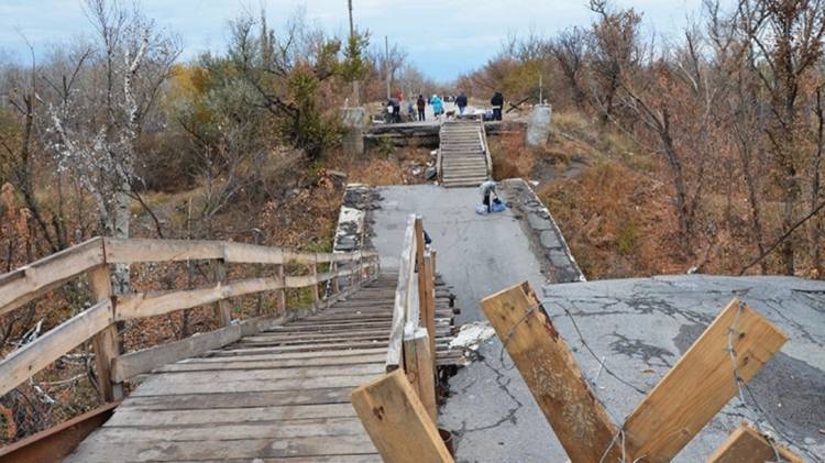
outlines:
[[430, 337], [427, 330], [418, 328], [414, 333], [404, 337], [404, 370], [413, 388], [416, 390], [425, 410], [438, 423], [436, 407], [436, 373], [430, 350]]

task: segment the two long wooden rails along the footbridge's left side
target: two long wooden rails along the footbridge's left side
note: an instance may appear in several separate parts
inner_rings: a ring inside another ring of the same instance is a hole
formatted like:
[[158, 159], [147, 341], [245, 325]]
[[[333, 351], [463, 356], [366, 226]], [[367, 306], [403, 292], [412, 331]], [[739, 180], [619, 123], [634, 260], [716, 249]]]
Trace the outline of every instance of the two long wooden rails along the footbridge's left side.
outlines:
[[[30, 265], [0, 276], [0, 315], [7, 313], [74, 277], [108, 272], [109, 264], [217, 260], [234, 264], [274, 264], [283, 275], [285, 264], [312, 265], [312, 274], [219, 282], [193, 290], [128, 294], [103, 298], [89, 309], [66, 320], [43, 337], [12, 352], [0, 362], [0, 396], [13, 389], [62, 355], [112, 327], [118, 320], [153, 317], [176, 310], [227, 300], [248, 294], [286, 288], [317, 287], [344, 276], [366, 272], [375, 276], [375, 252], [306, 253], [223, 241], [123, 240], [95, 238]], [[318, 274], [317, 264], [334, 263], [330, 272]], [[338, 263], [351, 263], [340, 266]], [[95, 272], [92, 272], [95, 271]], [[92, 278], [95, 279], [95, 278]], [[348, 289], [349, 290], [349, 289]], [[318, 301], [320, 302], [320, 301]], [[96, 342], [96, 349], [98, 342]], [[100, 354], [100, 352], [98, 352]], [[117, 359], [117, 357], [116, 357]], [[109, 381], [111, 378], [103, 378]]]

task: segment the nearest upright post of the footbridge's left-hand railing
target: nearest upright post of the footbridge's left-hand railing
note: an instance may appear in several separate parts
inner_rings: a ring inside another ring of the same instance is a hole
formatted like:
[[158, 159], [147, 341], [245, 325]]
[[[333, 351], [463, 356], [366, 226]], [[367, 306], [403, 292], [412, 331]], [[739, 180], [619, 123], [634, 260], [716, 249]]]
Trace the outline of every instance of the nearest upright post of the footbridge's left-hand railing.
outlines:
[[[91, 291], [97, 302], [112, 300], [112, 277], [108, 265], [101, 265], [89, 274]], [[114, 301], [112, 300], [112, 304]], [[113, 308], [114, 306], [112, 306]], [[114, 309], [112, 309], [112, 312]], [[112, 313], [114, 319], [114, 313]], [[120, 354], [118, 344], [118, 326], [109, 324], [92, 338], [95, 348], [95, 365], [97, 366], [100, 395], [103, 401], [123, 398], [123, 385], [112, 382], [112, 361]]]

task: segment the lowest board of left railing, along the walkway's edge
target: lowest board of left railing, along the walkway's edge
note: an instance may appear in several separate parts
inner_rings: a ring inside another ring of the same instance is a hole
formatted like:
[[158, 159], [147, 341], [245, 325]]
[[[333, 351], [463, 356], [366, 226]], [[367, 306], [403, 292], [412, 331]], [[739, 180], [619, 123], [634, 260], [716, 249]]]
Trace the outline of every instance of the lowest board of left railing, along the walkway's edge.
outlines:
[[239, 339], [241, 339], [241, 327], [230, 326], [142, 351], [130, 352], [114, 360], [112, 377], [116, 382], [124, 382], [139, 374], [151, 372], [158, 366], [200, 355], [212, 349], [231, 344]]

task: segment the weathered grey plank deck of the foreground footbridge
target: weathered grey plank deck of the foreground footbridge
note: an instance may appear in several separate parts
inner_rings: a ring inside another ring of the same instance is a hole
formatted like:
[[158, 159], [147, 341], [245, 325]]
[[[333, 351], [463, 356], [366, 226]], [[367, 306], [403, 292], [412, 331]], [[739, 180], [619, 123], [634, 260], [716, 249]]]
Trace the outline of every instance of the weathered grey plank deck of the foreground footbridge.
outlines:
[[[377, 462], [350, 404], [384, 373], [397, 275], [317, 315], [154, 371], [68, 462]], [[449, 288], [437, 286], [439, 363]]]

